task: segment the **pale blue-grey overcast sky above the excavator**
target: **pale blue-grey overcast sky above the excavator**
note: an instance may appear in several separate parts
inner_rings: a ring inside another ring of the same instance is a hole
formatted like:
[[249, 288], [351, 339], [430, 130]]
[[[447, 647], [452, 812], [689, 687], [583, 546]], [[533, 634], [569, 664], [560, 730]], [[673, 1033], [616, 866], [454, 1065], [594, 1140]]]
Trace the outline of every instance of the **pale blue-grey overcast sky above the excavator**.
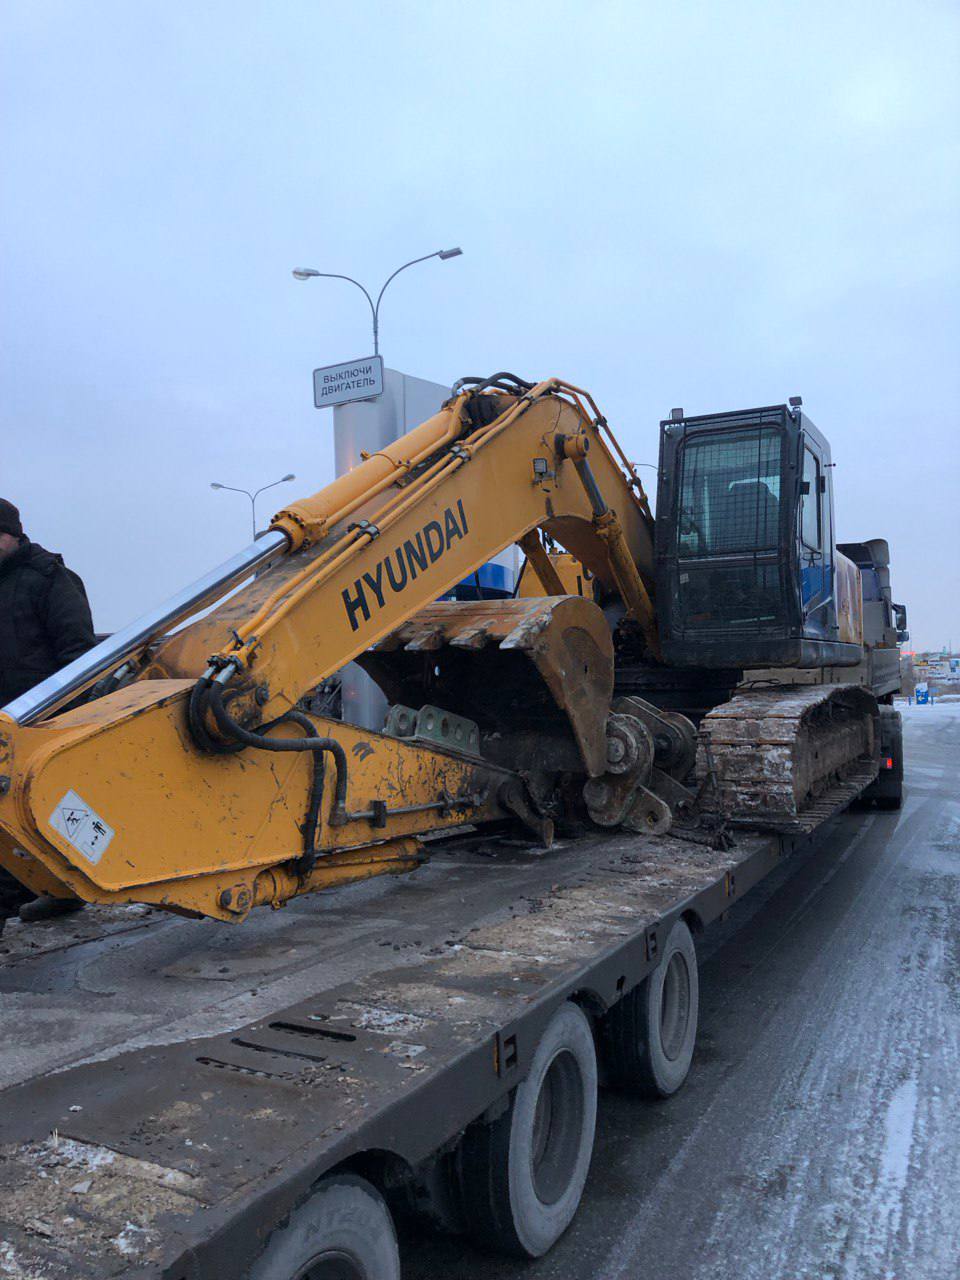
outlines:
[[[960, 645], [960, 6], [3, 0], [0, 495], [116, 627], [333, 475], [311, 369], [803, 394], [844, 540]], [[644, 472], [652, 476], [653, 472]], [[262, 516], [271, 504], [265, 495]]]

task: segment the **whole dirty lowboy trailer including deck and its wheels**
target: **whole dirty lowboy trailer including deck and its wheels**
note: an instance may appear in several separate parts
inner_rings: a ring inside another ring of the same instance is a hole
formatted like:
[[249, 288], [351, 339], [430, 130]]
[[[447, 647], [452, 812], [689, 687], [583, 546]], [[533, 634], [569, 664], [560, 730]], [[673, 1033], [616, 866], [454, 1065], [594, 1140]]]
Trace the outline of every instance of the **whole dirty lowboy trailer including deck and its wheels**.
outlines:
[[282, 1245], [338, 1196], [375, 1249], [319, 1276], [397, 1275], [398, 1208], [544, 1252], [580, 1199], [598, 1076], [682, 1083], [689, 940], [796, 844], [454, 836], [411, 877], [246, 931], [138, 906], [12, 925], [4, 1020], [28, 1007], [33, 1030], [0, 1048], [0, 1274], [312, 1280]]

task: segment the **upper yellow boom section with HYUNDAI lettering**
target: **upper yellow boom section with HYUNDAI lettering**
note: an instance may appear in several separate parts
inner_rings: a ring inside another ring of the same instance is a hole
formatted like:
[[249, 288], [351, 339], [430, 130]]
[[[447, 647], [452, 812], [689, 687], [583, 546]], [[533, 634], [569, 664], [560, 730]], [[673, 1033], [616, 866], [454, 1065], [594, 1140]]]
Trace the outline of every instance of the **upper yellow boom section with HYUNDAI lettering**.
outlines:
[[[649, 508], [582, 396], [553, 379], [522, 396], [453, 398], [280, 511], [271, 527], [291, 554], [163, 645], [151, 675], [191, 678], [212, 654], [259, 684], [265, 718], [279, 714], [511, 543], [530, 554], [538, 529], [622, 598], [655, 653]], [[534, 557], [554, 586], [547, 557]]]

